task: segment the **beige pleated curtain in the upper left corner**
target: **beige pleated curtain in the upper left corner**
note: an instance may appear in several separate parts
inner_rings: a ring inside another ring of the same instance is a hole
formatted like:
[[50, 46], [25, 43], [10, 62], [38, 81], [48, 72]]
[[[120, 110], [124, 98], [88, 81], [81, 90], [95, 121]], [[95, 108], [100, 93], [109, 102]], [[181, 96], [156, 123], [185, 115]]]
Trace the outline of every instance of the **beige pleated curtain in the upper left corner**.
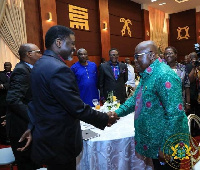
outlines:
[[[6, 1], [5, 13], [0, 23], [0, 37], [13, 54], [19, 58], [18, 49], [27, 42], [25, 11], [23, 0]], [[0, 56], [1, 57], [1, 56]]]

